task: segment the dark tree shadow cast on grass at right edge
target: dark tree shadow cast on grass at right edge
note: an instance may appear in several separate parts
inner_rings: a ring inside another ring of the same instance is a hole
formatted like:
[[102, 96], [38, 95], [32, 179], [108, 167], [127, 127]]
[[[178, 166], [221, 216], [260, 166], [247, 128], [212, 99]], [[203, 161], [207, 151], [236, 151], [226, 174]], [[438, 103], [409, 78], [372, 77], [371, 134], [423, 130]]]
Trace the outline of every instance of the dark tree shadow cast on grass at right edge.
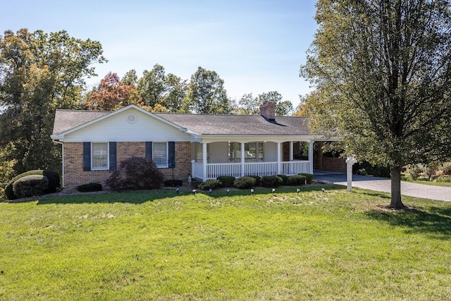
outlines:
[[424, 233], [434, 238], [450, 240], [451, 208], [428, 207], [391, 210], [386, 207], [367, 213], [371, 219], [387, 222], [390, 226], [405, 227], [405, 233]]

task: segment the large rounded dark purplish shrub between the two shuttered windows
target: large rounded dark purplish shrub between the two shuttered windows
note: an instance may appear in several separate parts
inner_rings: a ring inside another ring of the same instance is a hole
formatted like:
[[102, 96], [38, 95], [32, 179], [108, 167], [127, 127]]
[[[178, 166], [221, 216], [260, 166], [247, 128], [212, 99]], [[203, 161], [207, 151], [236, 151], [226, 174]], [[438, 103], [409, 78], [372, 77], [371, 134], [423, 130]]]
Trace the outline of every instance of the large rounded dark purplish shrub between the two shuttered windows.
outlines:
[[149, 158], [132, 156], [119, 164], [106, 180], [112, 190], [158, 189], [163, 184], [163, 173]]

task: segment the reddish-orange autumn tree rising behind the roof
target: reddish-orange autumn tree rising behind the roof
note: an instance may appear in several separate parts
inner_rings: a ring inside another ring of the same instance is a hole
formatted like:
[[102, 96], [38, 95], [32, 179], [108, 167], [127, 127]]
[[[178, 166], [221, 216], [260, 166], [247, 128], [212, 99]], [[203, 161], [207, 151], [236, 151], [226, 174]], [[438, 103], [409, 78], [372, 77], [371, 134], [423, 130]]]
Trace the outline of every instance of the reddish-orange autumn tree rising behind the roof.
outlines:
[[85, 103], [85, 109], [113, 111], [129, 104], [140, 105], [135, 85], [125, 85], [116, 73], [105, 75], [99, 87], [95, 88]]

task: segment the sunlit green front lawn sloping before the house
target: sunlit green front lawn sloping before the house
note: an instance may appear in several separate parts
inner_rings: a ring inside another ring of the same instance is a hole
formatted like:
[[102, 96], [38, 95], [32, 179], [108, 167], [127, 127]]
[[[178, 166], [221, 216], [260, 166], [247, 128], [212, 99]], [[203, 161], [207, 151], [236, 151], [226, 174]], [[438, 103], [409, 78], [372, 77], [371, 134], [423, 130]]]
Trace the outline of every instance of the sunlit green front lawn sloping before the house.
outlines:
[[450, 300], [450, 203], [324, 188], [0, 203], [0, 300]]

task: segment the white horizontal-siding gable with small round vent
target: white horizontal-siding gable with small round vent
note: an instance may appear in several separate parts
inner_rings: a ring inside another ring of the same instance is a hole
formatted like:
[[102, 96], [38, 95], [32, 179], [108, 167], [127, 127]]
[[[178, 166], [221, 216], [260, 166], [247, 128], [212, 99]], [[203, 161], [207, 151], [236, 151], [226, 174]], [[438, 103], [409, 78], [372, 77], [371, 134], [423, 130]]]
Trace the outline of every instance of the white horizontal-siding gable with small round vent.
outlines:
[[[132, 116], [136, 116], [135, 122]], [[129, 119], [129, 121], [128, 121]], [[85, 128], [75, 130], [65, 137], [65, 142], [99, 141], [99, 142], [133, 142], [133, 141], [190, 141], [191, 136], [183, 130], [159, 121], [153, 116], [128, 109], [102, 119]]]

